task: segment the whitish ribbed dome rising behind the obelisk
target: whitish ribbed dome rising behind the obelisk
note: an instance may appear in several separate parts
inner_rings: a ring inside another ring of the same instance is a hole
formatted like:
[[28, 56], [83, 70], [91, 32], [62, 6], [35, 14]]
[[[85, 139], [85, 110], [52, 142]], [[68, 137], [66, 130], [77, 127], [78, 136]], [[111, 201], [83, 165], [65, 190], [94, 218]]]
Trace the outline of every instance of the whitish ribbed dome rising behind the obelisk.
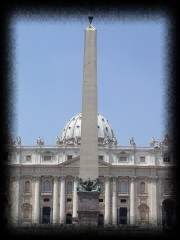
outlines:
[[[98, 114], [98, 144], [116, 146], [114, 131], [105, 117]], [[72, 117], [63, 128], [60, 144], [78, 145], [81, 142], [81, 113]]]

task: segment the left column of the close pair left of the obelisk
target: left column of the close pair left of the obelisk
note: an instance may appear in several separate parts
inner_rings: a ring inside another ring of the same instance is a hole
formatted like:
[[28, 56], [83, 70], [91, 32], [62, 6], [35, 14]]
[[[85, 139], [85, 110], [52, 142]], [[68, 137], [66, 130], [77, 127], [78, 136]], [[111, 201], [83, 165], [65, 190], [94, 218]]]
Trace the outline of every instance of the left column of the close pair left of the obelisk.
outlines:
[[58, 176], [54, 177], [54, 187], [53, 187], [53, 223], [58, 223]]

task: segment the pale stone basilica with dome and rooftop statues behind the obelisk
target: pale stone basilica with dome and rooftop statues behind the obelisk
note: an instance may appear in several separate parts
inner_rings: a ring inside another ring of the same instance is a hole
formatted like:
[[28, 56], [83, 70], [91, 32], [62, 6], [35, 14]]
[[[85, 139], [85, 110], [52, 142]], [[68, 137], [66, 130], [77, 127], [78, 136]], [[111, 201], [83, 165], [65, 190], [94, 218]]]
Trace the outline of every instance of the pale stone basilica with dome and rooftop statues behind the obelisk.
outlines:
[[[175, 221], [173, 157], [167, 134], [149, 146], [118, 146], [108, 120], [98, 114], [99, 226], [171, 226]], [[81, 113], [73, 116], [54, 146], [13, 143], [8, 159], [8, 222], [78, 224]], [[88, 177], [88, 172], [87, 172]]]

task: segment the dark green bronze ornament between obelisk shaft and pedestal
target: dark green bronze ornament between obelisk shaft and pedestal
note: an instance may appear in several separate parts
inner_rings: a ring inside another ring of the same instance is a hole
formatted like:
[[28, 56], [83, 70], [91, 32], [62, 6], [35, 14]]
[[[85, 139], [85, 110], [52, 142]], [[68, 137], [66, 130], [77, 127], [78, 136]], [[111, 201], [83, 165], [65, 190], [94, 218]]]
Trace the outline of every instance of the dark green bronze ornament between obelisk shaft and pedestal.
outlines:
[[99, 178], [96, 178], [95, 180], [90, 180], [88, 178], [87, 181], [82, 180], [82, 178], [79, 178], [79, 186], [77, 187], [77, 192], [100, 192], [100, 186], [98, 185], [100, 182]]

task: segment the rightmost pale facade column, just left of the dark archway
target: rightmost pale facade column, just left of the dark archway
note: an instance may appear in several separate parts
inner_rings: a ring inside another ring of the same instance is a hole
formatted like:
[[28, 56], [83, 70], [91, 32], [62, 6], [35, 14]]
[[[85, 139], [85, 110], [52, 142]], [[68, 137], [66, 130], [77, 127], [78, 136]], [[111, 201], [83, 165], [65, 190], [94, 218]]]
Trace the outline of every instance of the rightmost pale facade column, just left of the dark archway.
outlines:
[[151, 178], [151, 224], [157, 225], [157, 177]]

